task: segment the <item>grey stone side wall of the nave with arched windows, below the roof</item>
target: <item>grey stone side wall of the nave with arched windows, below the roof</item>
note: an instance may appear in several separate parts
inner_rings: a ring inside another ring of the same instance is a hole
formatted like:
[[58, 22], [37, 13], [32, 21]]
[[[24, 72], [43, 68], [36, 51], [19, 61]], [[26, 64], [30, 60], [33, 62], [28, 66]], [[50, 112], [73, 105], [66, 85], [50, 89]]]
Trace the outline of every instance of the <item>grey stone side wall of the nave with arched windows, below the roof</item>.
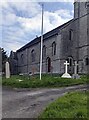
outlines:
[[[56, 55], [52, 56], [52, 43], [56, 42]], [[59, 62], [59, 52], [60, 52], [60, 35], [55, 35], [43, 41], [43, 45], [46, 46], [46, 57], [43, 59], [43, 73], [47, 73], [47, 58], [51, 59], [52, 72], [58, 72], [60, 70]], [[35, 61], [31, 60], [31, 51], [35, 51]], [[21, 60], [21, 55], [23, 54], [23, 62]], [[39, 73], [40, 71], [40, 43], [37, 43], [21, 52], [17, 53], [18, 56], [18, 72], [19, 73], [29, 73], [35, 72]]]

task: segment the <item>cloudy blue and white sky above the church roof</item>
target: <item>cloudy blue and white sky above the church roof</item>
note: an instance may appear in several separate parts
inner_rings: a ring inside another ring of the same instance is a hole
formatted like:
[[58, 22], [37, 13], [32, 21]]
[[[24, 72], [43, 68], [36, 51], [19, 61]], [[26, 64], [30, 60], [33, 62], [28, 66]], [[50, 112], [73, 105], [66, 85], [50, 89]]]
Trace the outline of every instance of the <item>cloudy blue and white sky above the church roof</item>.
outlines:
[[44, 33], [73, 18], [73, 0], [31, 1], [0, 2], [0, 47], [7, 51], [7, 55], [41, 35], [42, 3]]

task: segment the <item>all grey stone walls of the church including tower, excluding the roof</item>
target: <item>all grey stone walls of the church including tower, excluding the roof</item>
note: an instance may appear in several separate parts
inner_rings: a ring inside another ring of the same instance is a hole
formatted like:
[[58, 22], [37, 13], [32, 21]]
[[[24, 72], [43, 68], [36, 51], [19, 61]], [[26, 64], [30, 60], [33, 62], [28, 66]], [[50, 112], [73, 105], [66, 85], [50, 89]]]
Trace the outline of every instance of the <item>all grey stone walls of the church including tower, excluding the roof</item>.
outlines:
[[[47, 59], [50, 60], [50, 73], [64, 73], [65, 60], [72, 60], [69, 73], [73, 73], [73, 63], [79, 64], [79, 73], [87, 73], [85, 59], [89, 58], [89, 7], [86, 3], [74, 3], [74, 19], [58, 29], [58, 33], [46, 38], [46, 57], [43, 58], [42, 72], [48, 72]], [[79, 18], [78, 18], [79, 17]], [[71, 39], [70, 39], [71, 32]], [[52, 43], [56, 43], [56, 54], [52, 55]], [[34, 50], [35, 60], [32, 62], [31, 51]], [[40, 71], [40, 42], [17, 52], [19, 73], [39, 73]]]

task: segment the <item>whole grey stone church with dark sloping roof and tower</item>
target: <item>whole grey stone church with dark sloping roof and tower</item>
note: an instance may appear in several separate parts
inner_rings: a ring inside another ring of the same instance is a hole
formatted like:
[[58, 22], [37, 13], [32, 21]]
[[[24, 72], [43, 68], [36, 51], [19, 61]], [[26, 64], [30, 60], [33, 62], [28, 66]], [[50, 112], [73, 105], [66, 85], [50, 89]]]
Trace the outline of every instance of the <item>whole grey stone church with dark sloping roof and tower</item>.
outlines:
[[[10, 55], [11, 73], [40, 72], [41, 36], [35, 38]], [[74, 61], [78, 73], [89, 71], [89, 1], [74, 2], [74, 18], [43, 35], [42, 73], [64, 73], [64, 62], [69, 62], [68, 72], [73, 73]], [[14, 65], [14, 67], [13, 67]]]

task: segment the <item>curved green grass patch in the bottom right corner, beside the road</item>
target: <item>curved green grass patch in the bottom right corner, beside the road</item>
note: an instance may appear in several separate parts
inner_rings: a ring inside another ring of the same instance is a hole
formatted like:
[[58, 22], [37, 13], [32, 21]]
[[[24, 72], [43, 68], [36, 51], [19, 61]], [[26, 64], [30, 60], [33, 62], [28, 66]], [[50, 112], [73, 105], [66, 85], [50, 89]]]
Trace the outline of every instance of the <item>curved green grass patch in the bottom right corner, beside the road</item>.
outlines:
[[49, 104], [39, 118], [88, 118], [87, 95], [89, 91], [68, 93]]

